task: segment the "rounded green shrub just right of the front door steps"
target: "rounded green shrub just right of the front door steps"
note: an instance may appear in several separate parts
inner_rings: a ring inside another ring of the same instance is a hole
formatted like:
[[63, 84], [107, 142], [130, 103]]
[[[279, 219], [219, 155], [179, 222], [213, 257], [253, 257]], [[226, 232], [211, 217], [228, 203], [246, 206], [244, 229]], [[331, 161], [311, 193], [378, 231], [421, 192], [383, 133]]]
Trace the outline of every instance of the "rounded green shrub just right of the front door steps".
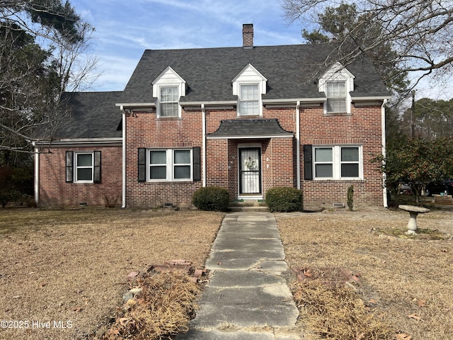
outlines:
[[289, 212], [302, 209], [302, 191], [288, 186], [270, 188], [266, 192], [265, 200], [271, 212]]

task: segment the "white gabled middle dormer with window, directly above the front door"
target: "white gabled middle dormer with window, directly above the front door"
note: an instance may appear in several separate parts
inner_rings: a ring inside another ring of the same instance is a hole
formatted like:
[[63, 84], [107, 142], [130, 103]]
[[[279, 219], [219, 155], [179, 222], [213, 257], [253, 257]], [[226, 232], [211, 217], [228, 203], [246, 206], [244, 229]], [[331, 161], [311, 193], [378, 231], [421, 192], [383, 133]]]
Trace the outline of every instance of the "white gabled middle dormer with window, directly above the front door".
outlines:
[[262, 95], [266, 94], [267, 81], [263, 74], [248, 64], [231, 81], [233, 95], [238, 96], [237, 115], [263, 115]]

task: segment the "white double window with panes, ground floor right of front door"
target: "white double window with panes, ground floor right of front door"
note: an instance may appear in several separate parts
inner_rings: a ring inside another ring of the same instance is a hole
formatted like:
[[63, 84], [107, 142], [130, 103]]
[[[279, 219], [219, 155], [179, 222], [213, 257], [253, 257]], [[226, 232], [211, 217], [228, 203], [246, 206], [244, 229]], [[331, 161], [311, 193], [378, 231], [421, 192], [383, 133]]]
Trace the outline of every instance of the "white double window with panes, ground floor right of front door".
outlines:
[[314, 147], [315, 179], [361, 179], [362, 147]]

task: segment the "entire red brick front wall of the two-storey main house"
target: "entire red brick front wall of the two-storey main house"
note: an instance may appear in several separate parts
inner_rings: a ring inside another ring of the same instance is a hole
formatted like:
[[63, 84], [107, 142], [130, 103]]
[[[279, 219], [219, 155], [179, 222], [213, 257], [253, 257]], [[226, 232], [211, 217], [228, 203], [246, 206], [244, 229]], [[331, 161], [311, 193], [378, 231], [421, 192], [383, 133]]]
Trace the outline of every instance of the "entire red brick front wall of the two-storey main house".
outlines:
[[[296, 132], [295, 108], [266, 109], [263, 118], [277, 118], [283, 129]], [[351, 115], [323, 114], [323, 108], [300, 109], [301, 189], [304, 208], [331, 208], [346, 203], [350, 185], [355, 187], [355, 206], [382, 205], [382, 174], [374, 155], [382, 152], [381, 108], [352, 107]], [[207, 134], [219, 128], [220, 120], [236, 119], [236, 110], [207, 110]], [[296, 141], [292, 138], [263, 140], [207, 140], [207, 186], [227, 188], [230, 198], [239, 189], [238, 145], [260, 145], [262, 188], [297, 187]], [[362, 145], [362, 181], [304, 181], [303, 145]], [[127, 205], [155, 207], [164, 203], [190, 206], [202, 182], [137, 182], [137, 148], [202, 147], [201, 111], [183, 111], [182, 118], [156, 119], [155, 111], [127, 115]], [[203, 152], [203, 151], [202, 151]]]

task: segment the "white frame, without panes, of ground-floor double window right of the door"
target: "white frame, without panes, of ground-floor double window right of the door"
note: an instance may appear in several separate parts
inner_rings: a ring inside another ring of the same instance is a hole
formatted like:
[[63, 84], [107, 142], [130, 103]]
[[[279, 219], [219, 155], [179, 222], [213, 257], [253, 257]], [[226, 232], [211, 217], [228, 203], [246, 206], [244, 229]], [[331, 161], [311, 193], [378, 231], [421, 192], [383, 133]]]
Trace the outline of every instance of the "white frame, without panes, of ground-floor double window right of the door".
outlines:
[[[319, 162], [316, 161], [316, 149], [332, 150], [332, 161], [331, 162]], [[357, 148], [358, 149], [358, 160], [357, 161], [342, 161], [341, 160], [341, 149], [343, 148]], [[319, 177], [316, 176], [316, 165], [321, 164], [332, 164], [332, 176]], [[358, 176], [342, 176], [342, 165], [343, 164], [357, 164], [358, 165]], [[362, 180], [363, 179], [363, 156], [362, 156], [362, 145], [316, 145], [313, 147], [313, 178], [315, 180]]]

